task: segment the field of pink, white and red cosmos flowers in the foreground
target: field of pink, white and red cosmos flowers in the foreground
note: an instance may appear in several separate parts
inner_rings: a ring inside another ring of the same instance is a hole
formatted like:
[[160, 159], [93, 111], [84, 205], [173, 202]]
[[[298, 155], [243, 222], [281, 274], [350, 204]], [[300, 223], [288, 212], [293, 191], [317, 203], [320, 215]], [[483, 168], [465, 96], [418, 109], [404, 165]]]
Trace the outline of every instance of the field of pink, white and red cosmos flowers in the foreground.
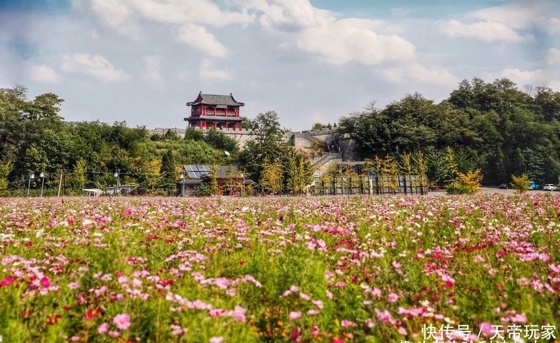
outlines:
[[4, 198], [0, 341], [554, 342], [559, 218], [551, 194]]

